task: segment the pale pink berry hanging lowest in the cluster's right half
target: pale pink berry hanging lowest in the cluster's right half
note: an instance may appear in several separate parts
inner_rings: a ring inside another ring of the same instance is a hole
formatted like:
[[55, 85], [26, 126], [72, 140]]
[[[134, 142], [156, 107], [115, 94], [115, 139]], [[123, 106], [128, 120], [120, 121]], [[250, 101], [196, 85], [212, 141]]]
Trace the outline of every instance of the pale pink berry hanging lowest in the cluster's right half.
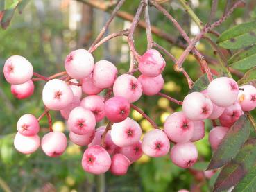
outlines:
[[171, 148], [171, 161], [181, 168], [189, 168], [196, 163], [198, 151], [194, 143], [177, 143]]

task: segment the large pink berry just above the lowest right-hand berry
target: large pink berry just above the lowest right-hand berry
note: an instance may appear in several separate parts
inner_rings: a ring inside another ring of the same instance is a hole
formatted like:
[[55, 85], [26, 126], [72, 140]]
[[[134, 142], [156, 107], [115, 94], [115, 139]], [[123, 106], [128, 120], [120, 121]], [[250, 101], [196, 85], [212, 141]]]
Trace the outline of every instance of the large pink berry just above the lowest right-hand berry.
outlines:
[[175, 143], [187, 142], [193, 137], [194, 123], [184, 112], [175, 112], [165, 120], [164, 132]]

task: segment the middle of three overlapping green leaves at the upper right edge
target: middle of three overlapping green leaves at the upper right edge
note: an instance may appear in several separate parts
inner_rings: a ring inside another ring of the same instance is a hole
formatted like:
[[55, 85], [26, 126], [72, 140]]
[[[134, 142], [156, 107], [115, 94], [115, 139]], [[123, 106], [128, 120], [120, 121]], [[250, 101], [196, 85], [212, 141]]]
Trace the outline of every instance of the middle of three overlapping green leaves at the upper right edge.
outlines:
[[234, 69], [250, 69], [256, 66], [256, 46], [234, 54], [228, 64]]

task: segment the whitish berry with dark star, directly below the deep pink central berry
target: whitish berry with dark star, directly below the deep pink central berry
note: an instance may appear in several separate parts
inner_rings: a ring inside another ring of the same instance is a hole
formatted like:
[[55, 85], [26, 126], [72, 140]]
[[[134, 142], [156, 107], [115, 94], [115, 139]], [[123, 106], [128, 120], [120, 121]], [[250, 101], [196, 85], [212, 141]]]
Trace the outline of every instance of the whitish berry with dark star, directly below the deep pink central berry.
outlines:
[[139, 124], [129, 117], [112, 125], [111, 138], [119, 147], [133, 145], [139, 141], [141, 136], [142, 129]]

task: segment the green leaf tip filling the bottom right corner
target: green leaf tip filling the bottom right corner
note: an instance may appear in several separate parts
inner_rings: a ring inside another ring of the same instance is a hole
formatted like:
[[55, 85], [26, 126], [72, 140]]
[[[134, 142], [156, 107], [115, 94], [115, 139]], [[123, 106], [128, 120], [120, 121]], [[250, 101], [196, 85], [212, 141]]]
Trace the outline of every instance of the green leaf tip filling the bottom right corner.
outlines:
[[250, 172], [241, 180], [232, 192], [252, 192], [256, 186], [256, 166], [251, 168]]

